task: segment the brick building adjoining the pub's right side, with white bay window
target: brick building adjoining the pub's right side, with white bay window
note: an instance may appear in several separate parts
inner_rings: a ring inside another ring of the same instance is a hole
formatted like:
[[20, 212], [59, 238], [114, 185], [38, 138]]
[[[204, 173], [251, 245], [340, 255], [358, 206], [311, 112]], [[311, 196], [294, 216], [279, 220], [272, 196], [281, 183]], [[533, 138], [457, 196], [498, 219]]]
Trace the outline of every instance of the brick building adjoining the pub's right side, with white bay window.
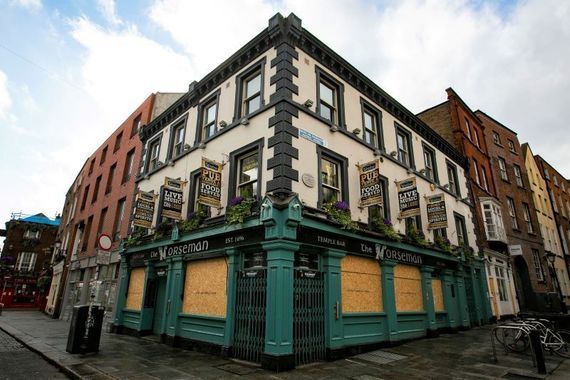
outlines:
[[491, 305], [497, 318], [519, 311], [509, 265], [501, 202], [497, 197], [485, 126], [452, 89], [447, 100], [418, 114], [469, 160], [469, 190], [475, 216], [479, 254], [487, 262]]

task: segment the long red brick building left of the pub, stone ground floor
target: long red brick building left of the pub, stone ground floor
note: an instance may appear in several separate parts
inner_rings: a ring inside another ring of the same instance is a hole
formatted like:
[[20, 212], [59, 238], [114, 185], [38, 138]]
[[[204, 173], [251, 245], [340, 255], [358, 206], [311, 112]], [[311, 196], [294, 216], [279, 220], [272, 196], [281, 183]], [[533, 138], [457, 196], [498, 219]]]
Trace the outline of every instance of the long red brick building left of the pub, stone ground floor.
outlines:
[[[141, 127], [168, 108], [179, 94], [151, 94], [87, 159], [68, 192], [59, 232], [61, 249], [69, 261], [61, 318], [74, 305], [95, 302], [111, 318], [116, 297], [119, 246], [127, 235], [133, 202], [134, 179], [142, 145]], [[99, 237], [112, 240], [111, 249], [98, 245]]]

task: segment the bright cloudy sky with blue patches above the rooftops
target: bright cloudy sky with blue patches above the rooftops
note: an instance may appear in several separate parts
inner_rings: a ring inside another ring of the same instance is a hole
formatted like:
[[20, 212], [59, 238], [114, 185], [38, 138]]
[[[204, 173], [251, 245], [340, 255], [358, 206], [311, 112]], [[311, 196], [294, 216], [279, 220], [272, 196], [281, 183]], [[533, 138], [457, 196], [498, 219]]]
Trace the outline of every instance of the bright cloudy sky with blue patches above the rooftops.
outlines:
[[0, 0], [0, 224], [61, 213], [150, 93], [185, 92], [276, 12], [410, 111], [453, 87], [570, 175], [570, 1]]

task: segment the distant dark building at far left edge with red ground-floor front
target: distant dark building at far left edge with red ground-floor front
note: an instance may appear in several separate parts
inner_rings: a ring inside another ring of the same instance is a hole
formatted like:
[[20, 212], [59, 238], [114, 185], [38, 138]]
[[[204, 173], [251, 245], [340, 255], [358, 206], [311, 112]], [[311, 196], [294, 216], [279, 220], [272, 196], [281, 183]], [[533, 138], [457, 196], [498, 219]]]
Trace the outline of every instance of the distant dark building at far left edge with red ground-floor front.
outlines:
[[0, 255], [0, 303], [43, 308], [59, 217], [12, 214]]

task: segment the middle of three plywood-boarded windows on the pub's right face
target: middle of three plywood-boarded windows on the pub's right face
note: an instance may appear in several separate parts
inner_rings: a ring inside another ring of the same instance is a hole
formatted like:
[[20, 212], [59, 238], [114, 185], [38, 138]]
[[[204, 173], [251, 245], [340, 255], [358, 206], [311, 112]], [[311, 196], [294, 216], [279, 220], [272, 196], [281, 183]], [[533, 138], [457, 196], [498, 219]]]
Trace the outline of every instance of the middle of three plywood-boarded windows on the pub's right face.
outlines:
[[397, 311], [423, 311], [420, 268], [398, 264], [394, 267]]

